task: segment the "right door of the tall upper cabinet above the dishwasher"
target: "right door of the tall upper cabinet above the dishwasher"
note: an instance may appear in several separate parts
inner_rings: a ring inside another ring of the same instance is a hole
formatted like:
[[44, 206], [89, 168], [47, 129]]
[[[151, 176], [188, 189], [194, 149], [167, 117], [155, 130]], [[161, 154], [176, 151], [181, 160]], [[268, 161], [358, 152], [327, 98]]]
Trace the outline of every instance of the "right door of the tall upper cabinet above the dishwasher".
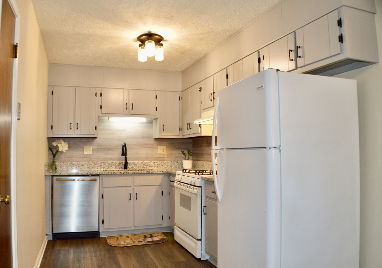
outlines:
[[98, 125], [97, 90], [76, 87], [75, 134], [95, 134]]

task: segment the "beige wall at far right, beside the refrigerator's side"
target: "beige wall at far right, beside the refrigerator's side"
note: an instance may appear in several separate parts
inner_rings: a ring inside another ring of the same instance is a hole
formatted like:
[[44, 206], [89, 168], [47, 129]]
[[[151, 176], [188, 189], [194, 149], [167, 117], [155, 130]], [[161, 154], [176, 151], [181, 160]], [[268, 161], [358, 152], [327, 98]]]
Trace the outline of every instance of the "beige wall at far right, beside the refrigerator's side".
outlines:
[[338, 75], [356, 79], [358, 87], [362, 268], [382, 265], [382, 1], [376, 6], [379, 63]]

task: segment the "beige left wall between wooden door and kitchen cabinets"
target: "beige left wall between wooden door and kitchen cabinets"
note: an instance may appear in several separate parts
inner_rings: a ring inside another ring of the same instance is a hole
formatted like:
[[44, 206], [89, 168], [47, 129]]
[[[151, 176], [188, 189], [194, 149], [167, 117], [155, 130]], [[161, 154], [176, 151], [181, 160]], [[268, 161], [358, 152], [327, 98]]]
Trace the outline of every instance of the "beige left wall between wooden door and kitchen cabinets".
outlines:
[[45, 238], [44, 163], [48, 60], [31, 0], [16, 0], [20, 14], [16, 125], [16, 210], [18, 267], [34, 267]]

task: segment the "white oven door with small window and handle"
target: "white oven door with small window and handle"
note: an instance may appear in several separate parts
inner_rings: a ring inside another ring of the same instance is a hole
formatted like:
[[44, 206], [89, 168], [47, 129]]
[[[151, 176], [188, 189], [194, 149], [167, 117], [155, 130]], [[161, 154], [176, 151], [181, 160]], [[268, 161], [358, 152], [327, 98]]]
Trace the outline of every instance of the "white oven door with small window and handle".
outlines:
[[175, 225], [196, 239], [202, 236], [202, 188], [176, 181]]

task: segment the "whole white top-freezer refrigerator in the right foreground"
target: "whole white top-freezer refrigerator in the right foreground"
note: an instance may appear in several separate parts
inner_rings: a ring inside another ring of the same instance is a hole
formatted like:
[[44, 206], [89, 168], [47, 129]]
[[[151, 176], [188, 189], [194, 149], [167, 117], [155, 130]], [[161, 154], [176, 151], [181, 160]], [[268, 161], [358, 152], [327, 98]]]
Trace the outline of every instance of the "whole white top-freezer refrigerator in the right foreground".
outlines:
[[356, 81], [268, 69], [217, 91], [213, 127], [219, 268], [359, 266]]

